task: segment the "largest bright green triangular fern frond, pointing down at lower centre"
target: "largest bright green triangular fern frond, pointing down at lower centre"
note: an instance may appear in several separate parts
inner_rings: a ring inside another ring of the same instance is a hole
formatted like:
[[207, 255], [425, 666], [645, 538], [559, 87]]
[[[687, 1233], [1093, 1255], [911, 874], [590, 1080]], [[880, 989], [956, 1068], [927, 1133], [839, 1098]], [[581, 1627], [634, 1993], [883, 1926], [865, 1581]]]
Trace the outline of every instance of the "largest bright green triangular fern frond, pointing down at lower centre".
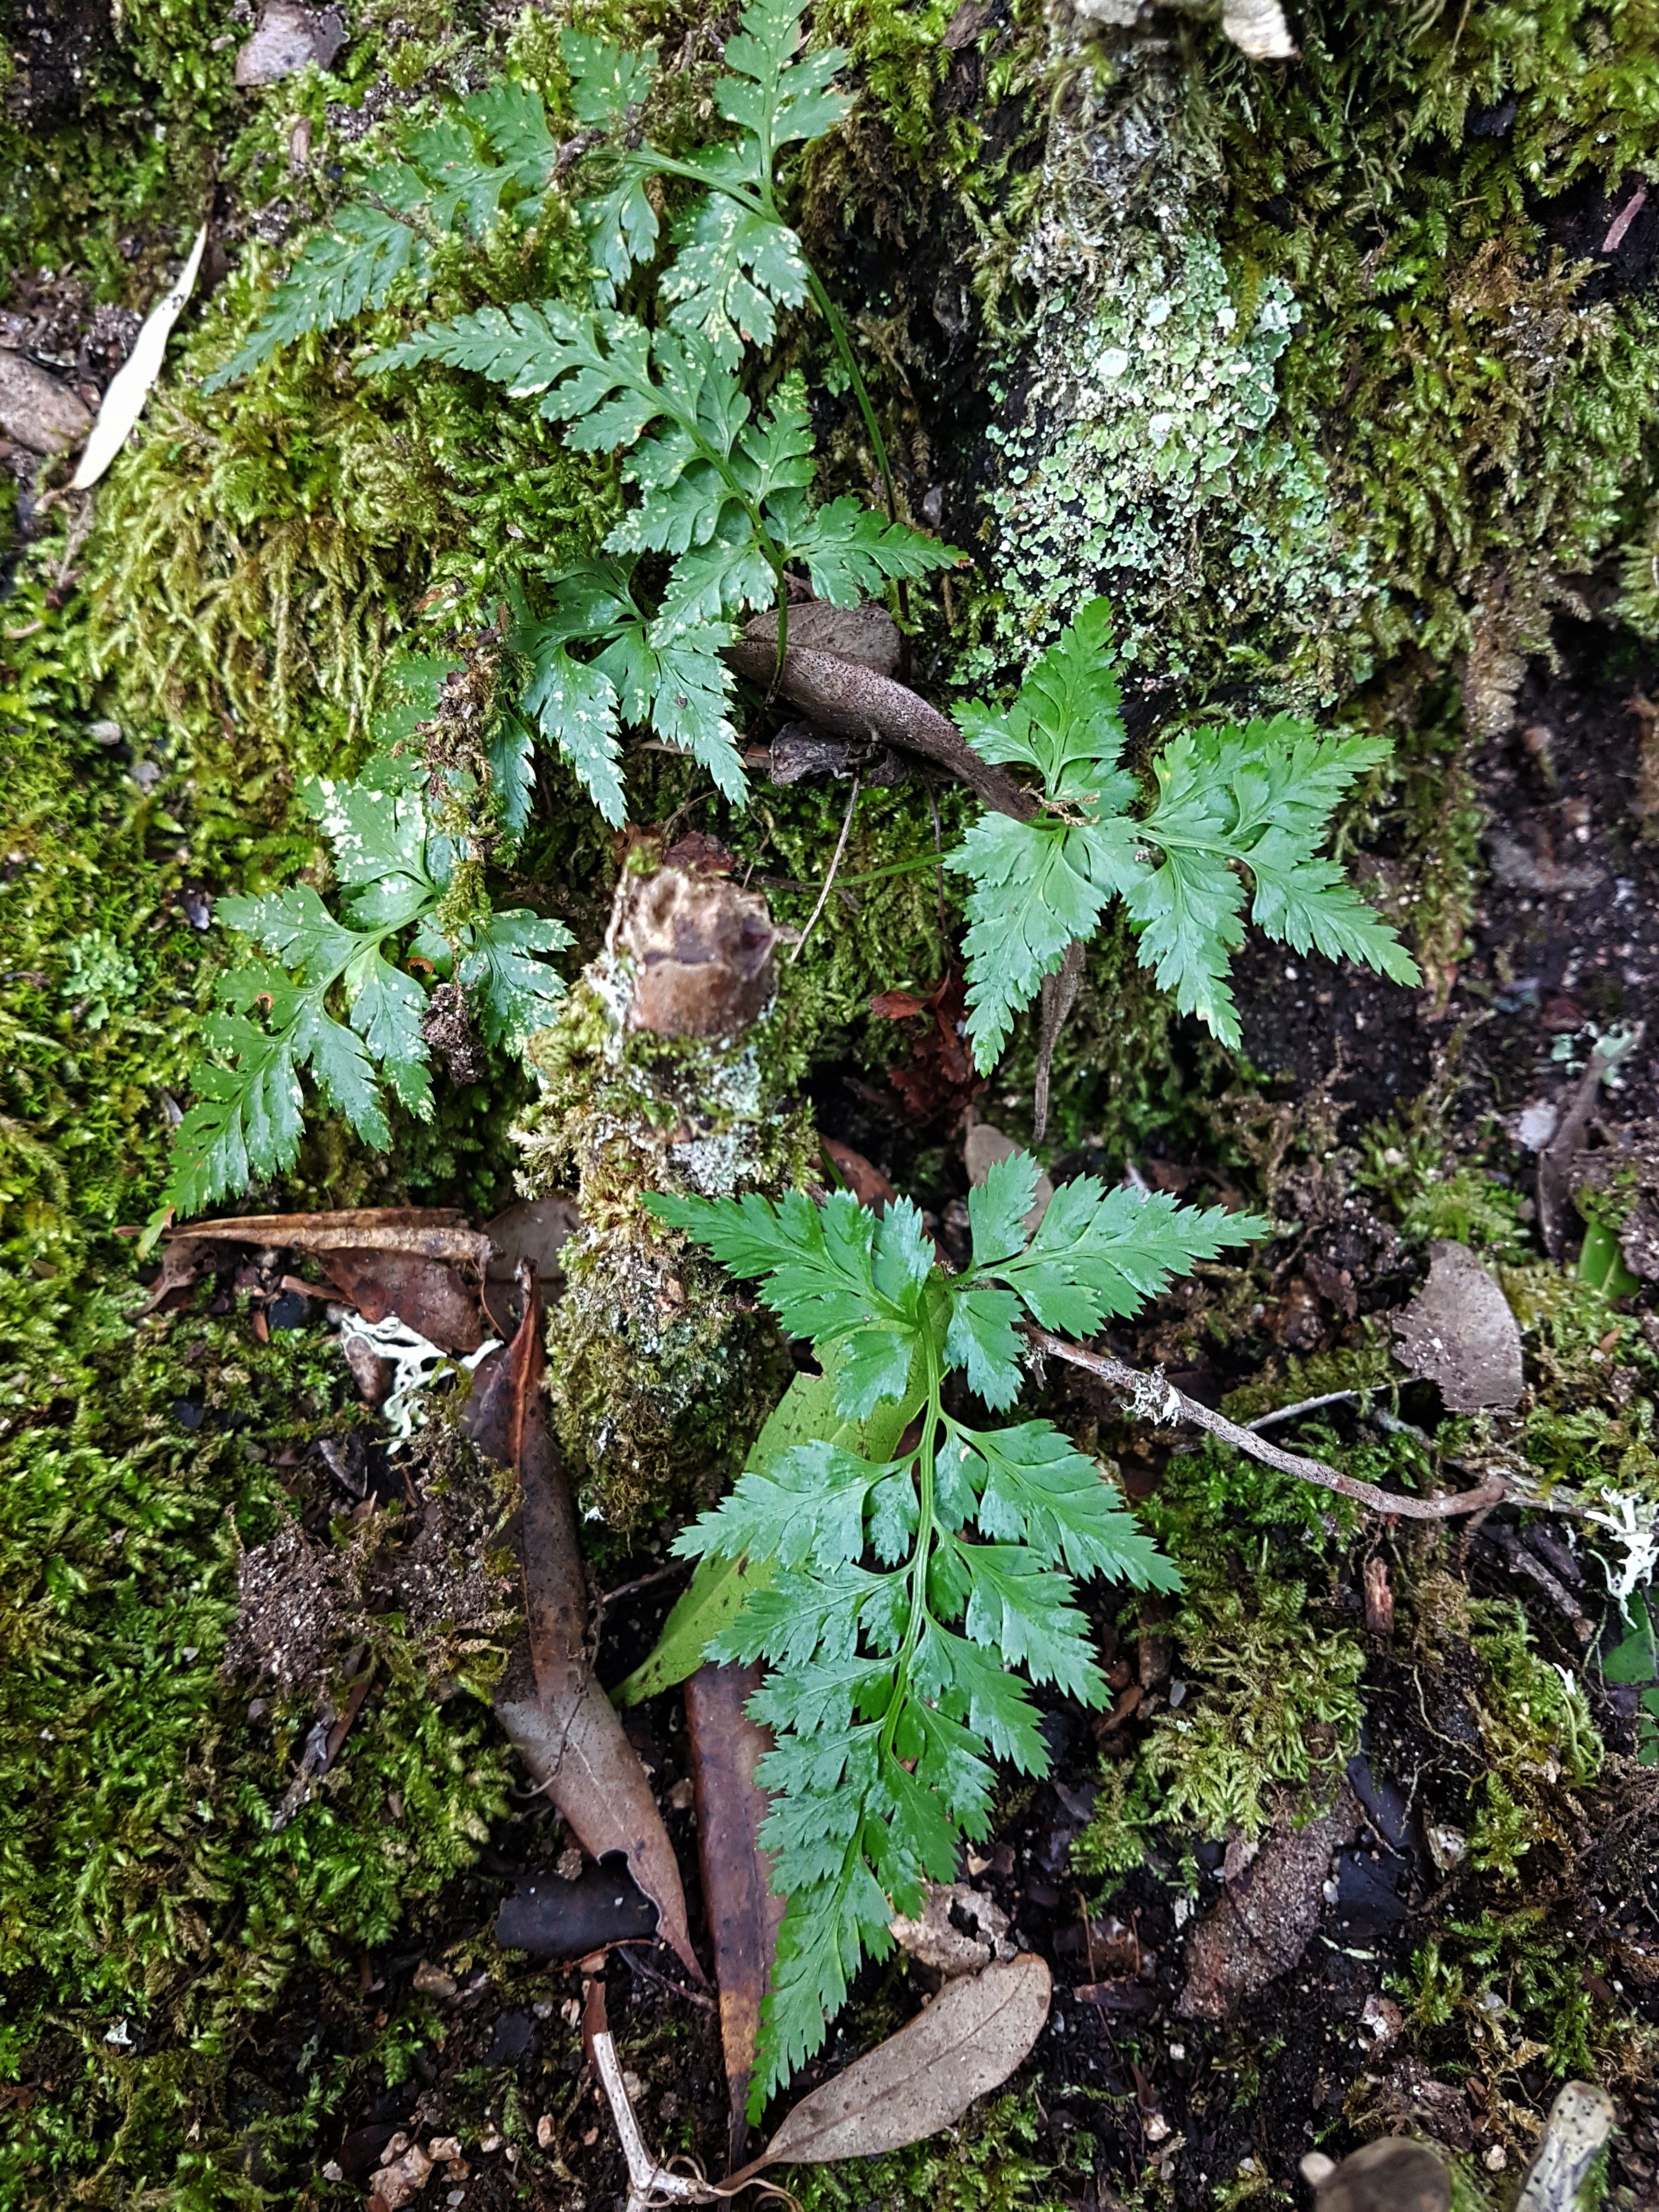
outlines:
[[706, 1615], [732, 1613], [730, 1575], [721, 1588], [710, 1566], [745, 1562], [741, 1610], [706, 1650], [768, 1666], [750, 1710], [776, 1734], [759, 1765], [774, 1794], [761, 1840], [787, 1909], [752, 2117], [818, 2048], [858, 1960], [891, 1951], [894, 1913], [920, 1911], [925, 1880], [956, 1878], [960, 1838], [987, 1834], [991, 1759], [1048, 1770], [1015, 1670], [1104, 1701], [1075, 1579], [1179, 1586], [1095, 1460], [1044, 1420], [960, 1420], [945, 1378], [960, 1369], [1006, 1411], [1024, 1321], [1086, 1336], [1265, 1223], [1079, 1177], [1026, 1234], [1035, 1188], [1029, 1155], [991, 1168], [969, 1197], [973, 1259], [958, 1276], [907, 1201], [880, 1217], [845, 1190], [821, 1206], [803, 1192], [648, 1201], [757, 1281], [834, 1378], [816, 1433], [761, 1451], [675, 1542], [703, 1562], [692, 1606]]

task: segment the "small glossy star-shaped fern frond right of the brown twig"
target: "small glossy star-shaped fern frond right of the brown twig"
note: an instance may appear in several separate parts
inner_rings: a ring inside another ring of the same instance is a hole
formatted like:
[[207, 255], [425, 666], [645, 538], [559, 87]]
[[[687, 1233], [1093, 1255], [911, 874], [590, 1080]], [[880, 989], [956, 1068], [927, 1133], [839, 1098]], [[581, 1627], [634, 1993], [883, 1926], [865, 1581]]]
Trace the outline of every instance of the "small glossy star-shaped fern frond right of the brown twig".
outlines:
[[1121, 763], [1104, 599], [1031, 664], [1011, 708], [975, 703], [956, 721], [982, 759], [1033, 770], [1042, 796], [1031, 821], [984, 814], [945, 863], [971, 883], [967, 998], [982, 1073], [1113, 898], [1141, 967], [1228, 1046], [1239, 1044], [1228, 969], [1243, 945], [1245, 876], [1250, 918], [1270, 938], [1418, 982], [1396, 931], [1321, 858], [1343, 794], [1389, 757], [1380, 739], [1321, 737], [1294, 714], [1183, 730], [1152, 763], [1157, 796], [1141, 805]]

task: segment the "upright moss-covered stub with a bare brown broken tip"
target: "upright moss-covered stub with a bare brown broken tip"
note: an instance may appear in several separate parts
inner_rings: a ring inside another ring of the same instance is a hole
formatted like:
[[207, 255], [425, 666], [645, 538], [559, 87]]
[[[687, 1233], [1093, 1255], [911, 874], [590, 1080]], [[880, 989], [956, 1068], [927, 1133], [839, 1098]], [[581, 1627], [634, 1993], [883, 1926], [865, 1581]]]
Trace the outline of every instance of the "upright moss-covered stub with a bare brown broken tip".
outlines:
[[772, 1321], [655, 1221], [653, 1190], [776, 1194], [812, 1124], [770, 1075], [765, 900], [633, 847], [604, 951], [531, 1040], [542, 1095], [518, 1128], [526, 1194], [575, 1186], [582, 1228], [549, 1378], [584, 1509], [617, 1531], [714, 1498], [783, 1387]]

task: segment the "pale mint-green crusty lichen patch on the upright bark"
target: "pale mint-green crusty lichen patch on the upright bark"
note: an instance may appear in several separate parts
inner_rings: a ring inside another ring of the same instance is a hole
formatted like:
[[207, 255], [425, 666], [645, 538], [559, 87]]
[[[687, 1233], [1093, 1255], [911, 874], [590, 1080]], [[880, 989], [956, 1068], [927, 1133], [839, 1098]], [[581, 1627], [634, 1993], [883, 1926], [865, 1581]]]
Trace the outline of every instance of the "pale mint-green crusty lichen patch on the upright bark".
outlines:
[[1332, 641], [1371, 588], [1365, 546], [1323, 462], [1272, 427], [1296, 316], [1276, 276], [1241, 310], [1201, 232], [1141, 237], [1097, 288], [1048, 299], [1018, 411], [989, 431], [1002, 604], [964, 675], [1026, 659], [1097, 591], [1141, 675], [1212, 681], [1283, 655], [1279, 695], [1312, 699], [1367, 672]]

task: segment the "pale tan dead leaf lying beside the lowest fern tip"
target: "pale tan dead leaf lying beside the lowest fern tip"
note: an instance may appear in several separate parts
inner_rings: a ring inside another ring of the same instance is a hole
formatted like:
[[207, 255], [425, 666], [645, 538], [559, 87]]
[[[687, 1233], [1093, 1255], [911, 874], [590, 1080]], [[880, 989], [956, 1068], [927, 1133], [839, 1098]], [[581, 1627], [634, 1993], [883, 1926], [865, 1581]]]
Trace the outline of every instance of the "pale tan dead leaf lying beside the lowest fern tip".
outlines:
[[872, 2159], [949, 2128], [1024, 2062], [1048, 2020], [1048, 1966], [1031, 1951], [947, 1982], [925, 2013], [790, 2112], [734, 2174], [821, 2159]]

